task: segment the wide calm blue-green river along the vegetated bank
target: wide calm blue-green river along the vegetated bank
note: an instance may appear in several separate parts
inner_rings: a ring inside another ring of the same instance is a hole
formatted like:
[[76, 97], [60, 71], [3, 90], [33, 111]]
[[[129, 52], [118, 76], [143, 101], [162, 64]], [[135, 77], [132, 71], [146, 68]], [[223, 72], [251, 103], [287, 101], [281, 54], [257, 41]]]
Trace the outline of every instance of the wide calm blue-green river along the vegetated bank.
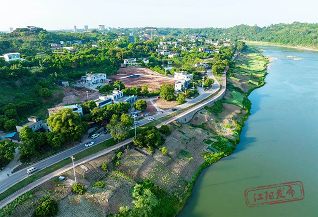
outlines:
[[[274, 58], [234, 153], [203, 170], [179, 217], [318, 216], [318, 52], [263, 47]], [[244, 190], [292, 181], [302, 201], [249, 208]]]

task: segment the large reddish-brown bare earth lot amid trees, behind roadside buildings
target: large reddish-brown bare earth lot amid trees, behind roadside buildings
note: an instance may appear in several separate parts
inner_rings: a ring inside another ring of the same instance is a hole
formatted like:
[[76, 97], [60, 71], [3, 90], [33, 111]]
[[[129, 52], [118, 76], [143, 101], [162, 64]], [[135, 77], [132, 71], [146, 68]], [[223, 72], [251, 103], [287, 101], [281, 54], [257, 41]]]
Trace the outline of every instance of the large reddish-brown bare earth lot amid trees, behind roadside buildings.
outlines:
[[[160, 76], [162, 78], [139, 76], [136, 78], [121, 79], [121, 77], [135, 74]], [[149, 91], [159, 91], [161, 85], [169, 83], [174, 86], [175, 83], [175, 81], [147, 68], [120, 68], [117, 71], [117, 74], [109, 76], [109, 79], [112, 79], [113, 81], [121, 81], [127, 88], [142, 87], [142, 85], [148, 85]]]

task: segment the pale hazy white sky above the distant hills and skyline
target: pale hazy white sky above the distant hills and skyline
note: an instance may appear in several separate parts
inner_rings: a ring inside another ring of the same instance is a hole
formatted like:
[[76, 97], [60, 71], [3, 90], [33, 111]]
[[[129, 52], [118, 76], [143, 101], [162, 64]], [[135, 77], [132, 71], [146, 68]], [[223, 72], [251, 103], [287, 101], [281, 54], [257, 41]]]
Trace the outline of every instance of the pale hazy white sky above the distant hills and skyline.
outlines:
[[1, 0], [0, 30], [318, 23], [318, 0]]

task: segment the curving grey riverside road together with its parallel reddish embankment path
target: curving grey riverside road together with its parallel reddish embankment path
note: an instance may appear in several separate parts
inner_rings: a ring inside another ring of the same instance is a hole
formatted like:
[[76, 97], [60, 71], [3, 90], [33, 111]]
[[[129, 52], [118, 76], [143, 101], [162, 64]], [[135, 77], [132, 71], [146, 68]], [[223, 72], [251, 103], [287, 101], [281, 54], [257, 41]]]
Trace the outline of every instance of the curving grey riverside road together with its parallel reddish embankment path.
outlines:
[[[237, 52], [234, 54], [234, 57], [232, 58], [232, 60], [234, 60], [236, 58], [236, 56], [237, 56]], [[160, 126], [162, 124], [165, 124], [165, 123], [169, 123], [169, 122], [171, 122], [173, 120], [176, 120], [179, 117], [181, 117], [183, 115], [186, 115], [187, 113], [189, 113], [189, 112], [191, 112], [191, 111], [193, 111], [193, 110], [195, 110], [197, 108], [203, 108], [208, 103], [211, 103], [212, 101], [215, 101], [220, 95], [223, 94], [223, 92], [226, 91], [226, 73], [228, 71], [228, 68], [229, 67], [226, 68], [226, 70], [224, 71], [224, 73], [222, 75], [222, 88], [221, 88], [220, 92], [216, 96], [212, 97], [211, 99], [207, 100], [206, 102], [204, 102], [204, 103], [202, 103], [200, 105], [197, 105], [197, 106], [195, 106], [193, 108], [190, 108], [189, 110], [186, 110], [186, 111], [176, 115], [175, 117], [172, 117], [172, 118], [170, 118], [170, 119], [168, 119], [166, 121], [161, 122], [158, 126]], [[216, 93], [220, 89], [220, 84], [214, 78], [211, 70], [207, 71], [207, 76], [209, 78], [211, 78], [211, 79], [214, 79], [215, 82], [213, 84], [213, 87], [210, 90], [208, 90], [205, 93], [203, 93], [200, 96], [198, 96], [197, 98], [195, 98], [193, 100], [190, 100], [190, 101], [188, 101], [185, 104], [182, 104], [182, 105], [179, 105], [179, 106], [175, 107], [175, 108], [177, 108], [177, 110], [182, 109], [182, 108], [187, 108], [187, 107], [189, 107], [191, 105], [194, 105], [194, 104], [206, 99], [207, 97], [211, 96], [212, 94]], [[168, 115], [170, 113], [173, 113], [173, 112], [175, 112], [175, 111], [171, 111], [171, 109], [168, 109], [168, 110], [163, 111], [163, 113], [159, 113], [159, 114], [153, 115], [152, 117], [157, 119], [157, 118], [166, 116], [166, 115]], [[149, 117], [151, 117], [151, 116], [149, 116]], [[151, 122], [151, 121], [148, 120], [148, 118], [145, 118], [143, 120], [139, 120], [138, 121], [139, 122], [138, 126], [142, 126], [142, 125], [144, 125], [146, 123]], [[55, 155], [52, 155], [52, 156], [50, 156], [48, 158], [45, 158], [45, 159], [43, 159], [43, 160], [41, 160], [39, 162], [36, 162], [36, 163], [34, 163], [32, 165], [29, 165], [29, 167], [32, 167], [32, 166], [36, 167], [38, 169], [38, 171], [43, 170], [46, 167], [49, 167], [49, 166], [51, 166], [51, 165], [53, 165], [53, 164], [55, 164], [55, 163], [57, 163], [59, 161], [62, 161], [64, 159], [70, 157], [71, 155], [75, 155], [75, 154], [79, 153], [80, 151], [85, 150], [86, 148], [84, 147], [84, 144], [89, 142], [89, 141], [94, 141], [95, 145], [96, 145], [98, 143], [101, 143], [101, 142], [109, 139], [110, 137], [111, 136], [108, 133], [108, 134], [101, 134], [98, 138], [93, 139], [93, 140], [88, 138], [88, 139], [84, 140], [82, 143], [80, 143], [77, 146], [74, 146], [74, 147], [72, 147], [70, 149], [64, 150], [64, 151], [59, 152], [59, 153], [57, 153]], [[75, 163], [76, 163], [76, 165], [80, 165], [80, 164], [82, 164], [84, 162], [90, 161], [90, 160], [92, 160], [92, 159], [94, 159], [96, 157], [99, 157], [99, 156], [103, 155], [103, 154], [109, 153], [109, 152], [111, 152], [114, 149], [117, 149], [117, 148], [119, 148], [121, 146], [124, 146], [124, 145], [128, 144], [131, 141], [132, 141], [132, 138], [127, 139], [127, 140], [125, 140], [125, 141], [123, 141], [121, 143], [118, 143], [118, 144], [116, 144], [116, 145], [114, 145], [112, 147], [104, 149], [104, 150], [102, 150], [100, 152], [97, 152], [97, 153], [95, 153], [93, 155], [87, 156], [87, 157], [85, 157], [85, 158], [83, 158], [83, 159], [81, 159], [79, 161], [75, 161]], [[51, 179], [52, 177], [57, 176], [57, 175], [65, 172], [65, 171], [67, 171], [67, 170], [69, 170], [71, 168], [72, 168], [71, 165], [67, 165], [67, 166], [65, 166], [65, 167], [63, 167], [63, 168], [61, 168], [61, 169], [59, 169], [59, 170], [57, 170], [57, 171], [55, 171], [55, 172], [53, 172], [51, 174], [48, 174], [48, 175], [36, 180], [35, 182], [29, 184], [28, 186], [18, 190], [17, 192], [15, 192], [12, 195], [8, 196], [7, 198], [3, 199], [0, 202], [0, 208], [5, 206], [6, 204], [10, 203], [12, 200], [17, 198], [19, 195], [31, 190], [32, 188], [42, 184], [43, 182]], [[31, 175], [29, 175], [29, 176], [31, 176]], [[27, 177], [28, 177], [28, 175], [26, 173], [26, 168], [25, 168], [25, 169], [22, 169], [22, 170], [19, 170], [19, 171], [13, 173], [12, 175], [10, 175], [9, 177], [6, 177], [5, 179], [0, 180], [0, 193], [4, 192], [5, 190], [8, 189], [8, 187], [11, 187], [11, 186], [15, 185], [16, 183], [18, 183], [19, 181], [21, 181], [21, 180], [23, 180], [23, 179], [25, 179]]]

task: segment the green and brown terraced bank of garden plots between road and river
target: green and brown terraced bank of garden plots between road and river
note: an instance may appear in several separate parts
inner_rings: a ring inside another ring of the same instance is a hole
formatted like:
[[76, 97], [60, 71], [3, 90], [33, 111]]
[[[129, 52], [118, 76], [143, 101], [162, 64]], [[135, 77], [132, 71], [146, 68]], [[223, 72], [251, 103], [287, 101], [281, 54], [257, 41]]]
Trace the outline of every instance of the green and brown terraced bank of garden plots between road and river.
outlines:
[[[228, 71], [224, 99], [197, 112], [187, 124], [174, 121], [159, 131], [145, 128], [147, 140], [139, 141], [140, 152], [129, 145], [85, 163], [87, 170], [78, 166], [83, 195], [76, 195], [67, 181], [49, 181], [31, 191], [23, 209], [18, 208], [19, 203], [9, 204], [1, 214], [6, 210], [3, 216], [32, 215], [42, 205], [37, 203], [41, 195], [49, 190], [50, 199], [58, 203], [57, 216], [74, 212], [88, 216], [176, 216], [200, 172], [230, 155], [239, 143], [251, 107], [247, 96], [265, 84], [267, 63], [257, 50], [244, 47]], [[155, 135], [160, 139], [153, 141]], [[74, 178], [73, 171], [63, 176]]]

